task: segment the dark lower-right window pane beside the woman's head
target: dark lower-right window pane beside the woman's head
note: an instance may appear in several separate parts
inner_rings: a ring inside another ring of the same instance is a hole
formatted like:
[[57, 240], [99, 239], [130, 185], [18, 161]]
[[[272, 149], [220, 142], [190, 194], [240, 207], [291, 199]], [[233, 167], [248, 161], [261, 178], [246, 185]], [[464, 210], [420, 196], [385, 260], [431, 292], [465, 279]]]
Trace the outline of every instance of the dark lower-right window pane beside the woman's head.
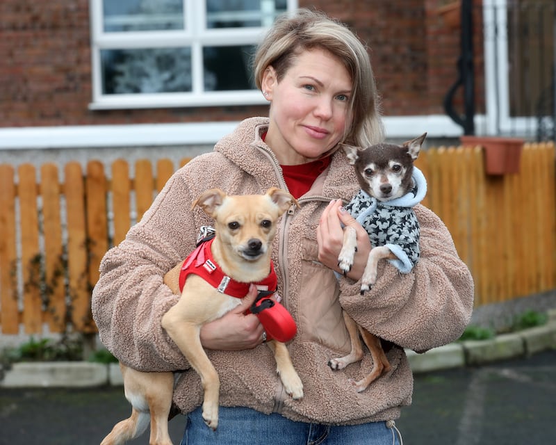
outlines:
[[204, 47], [204, 88], [206, 91], [251, 90], [255, 88], [251, 60], [255, 47]]

